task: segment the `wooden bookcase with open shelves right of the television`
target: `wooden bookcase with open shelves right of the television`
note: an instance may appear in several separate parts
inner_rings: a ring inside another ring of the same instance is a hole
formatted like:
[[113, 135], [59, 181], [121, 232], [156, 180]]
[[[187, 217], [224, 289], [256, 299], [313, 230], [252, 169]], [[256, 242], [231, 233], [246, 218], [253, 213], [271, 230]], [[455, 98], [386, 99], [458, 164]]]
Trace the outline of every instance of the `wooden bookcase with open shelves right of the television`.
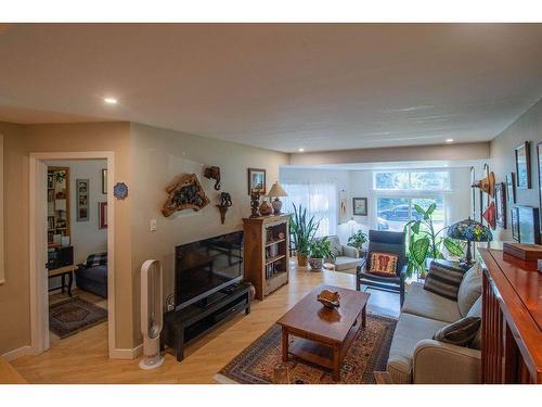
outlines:
[[245, 280], [261, 301], [288, 283], [289, 215], [244, 218], [243, 224]]

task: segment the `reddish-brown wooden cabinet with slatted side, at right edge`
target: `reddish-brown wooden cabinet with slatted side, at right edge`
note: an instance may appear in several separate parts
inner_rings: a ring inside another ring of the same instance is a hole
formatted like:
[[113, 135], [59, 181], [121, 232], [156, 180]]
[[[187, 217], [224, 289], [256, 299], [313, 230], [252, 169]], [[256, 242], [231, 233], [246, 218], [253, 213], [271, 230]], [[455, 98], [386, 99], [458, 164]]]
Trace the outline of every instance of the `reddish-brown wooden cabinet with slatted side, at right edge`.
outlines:
[[542, 383], [542, 274], [503, 251], [482, 258], [482, 382]]

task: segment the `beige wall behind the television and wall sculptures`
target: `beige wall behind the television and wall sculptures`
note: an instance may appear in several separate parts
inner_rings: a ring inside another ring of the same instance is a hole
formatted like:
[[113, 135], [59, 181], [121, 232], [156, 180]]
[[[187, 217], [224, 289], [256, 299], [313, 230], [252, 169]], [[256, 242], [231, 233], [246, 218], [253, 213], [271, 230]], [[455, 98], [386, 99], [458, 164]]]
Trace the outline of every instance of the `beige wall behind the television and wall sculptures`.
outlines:
[[[279, 166], [288, 163], [288, 155], [268, 150], [229, 143], [172, 130], [132, 124], [130, 190], [132, 234], [132, 276], [134, 293], [139, 293], [139, 272], [142, 263], [156, 258], [164, 266], [164, 295], [173, 291], [173, 250], [178, 244], [243, 228], [242, 218], [249, 216], [247, 168], [266, 168], [268, 190], [279, 179]], [[220, 167], [222, 188], [215, 191], [215, 182], [203, 177], [205, 166]], [[180, 174], [198, 176], [210, 200], [199, 212], [184, 211], [166, 218], [160, 209], [167, 194], [166, 187]], [[215, 206], [220, 192], [230, 192], [233, 206], [220, 222]], [[157, 220], [157, 230], [150, 231], [150, 219]], [[134, 342], [141, 341], [139, 330], [139, 295], [134, 295]]]

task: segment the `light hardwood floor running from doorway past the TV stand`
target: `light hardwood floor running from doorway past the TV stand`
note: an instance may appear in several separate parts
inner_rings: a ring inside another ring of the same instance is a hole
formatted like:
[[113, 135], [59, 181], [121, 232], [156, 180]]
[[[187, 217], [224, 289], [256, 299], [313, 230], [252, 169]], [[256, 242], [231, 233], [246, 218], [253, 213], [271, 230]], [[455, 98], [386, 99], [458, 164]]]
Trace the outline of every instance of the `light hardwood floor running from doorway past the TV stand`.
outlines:
[[[289, 283], [264, 301], [255, 301], [248, 316], [238, 315], [192, 343], [178, 364], [170, 354], [155, 370], [141, 370], [139, 358], [107, 358], [107, 325], [102, 323], [63, 341], [39, 356], [24, 356], [12, 366], [29, 383], [215, 383], [214, 376], [235, 355], [269, 329], [286, 310], [321, 282], [354, 288], [354, 276], [297, 269], [292, 263]], [[370, 292], [369, 311], [397, 316], [397, 294]]]

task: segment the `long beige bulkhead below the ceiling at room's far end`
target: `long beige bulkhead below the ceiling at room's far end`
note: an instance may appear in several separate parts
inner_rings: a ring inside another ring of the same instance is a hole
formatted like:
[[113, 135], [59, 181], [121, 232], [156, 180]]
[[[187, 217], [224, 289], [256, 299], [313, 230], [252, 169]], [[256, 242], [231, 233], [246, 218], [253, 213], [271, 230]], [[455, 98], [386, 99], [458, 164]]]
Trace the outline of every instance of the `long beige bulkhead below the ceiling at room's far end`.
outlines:
[[389, 163], [401, 161], [483, 160], [488, 157], [489, 143], [479, 142], [295, 153], [291, 155], [291, 164]]

